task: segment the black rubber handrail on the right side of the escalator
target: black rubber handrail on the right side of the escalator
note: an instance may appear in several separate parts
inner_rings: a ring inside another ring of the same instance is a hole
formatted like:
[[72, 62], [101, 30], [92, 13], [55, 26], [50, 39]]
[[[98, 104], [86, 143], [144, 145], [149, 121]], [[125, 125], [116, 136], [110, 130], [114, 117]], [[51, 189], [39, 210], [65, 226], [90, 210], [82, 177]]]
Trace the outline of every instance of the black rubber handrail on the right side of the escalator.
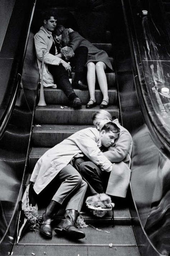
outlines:
[[[142, 58], [140, 54], [140, 49], [138, 45], [137, 40], [137, 34], [134, 27], [134, 22], [132, 18], [132, 10], [130, 7], [130, 1], [129, 1], [129, 8], [127, 8], [127, 2], [125, 3], [124, 0], [122, 0], [122, 6], [123, 6], [123, 12], [125, 17], [125, 22], [127, 26], [127, 32], [128, 32], [128, 40], [129, 40], [129, 46], [131, 49], [131, 54], [133, 55], [133, 61], [134, 66], [136, 70], [134, 70], [134, 77], [136, 78], [136, 81], [139, 86], [136, 87], [137, 93], [138, 93], [138, 100], [140, 105], [142, 106], [141, 111], [143, 113], [143, 117], [145, 118], [146, 124], [151, 131], [151, 136], [154, 139], [155, 143], [159, 148], [165, 148], [167, 151], [167, 154], [170, 152], [170, 143], [168, 138], [168, 133], [165, 130], [165, 128], [160, 123], [160, 120], [155, 114], [155, 118], [153, 119], [150, 116], [150, 113], [155, 113], [155, 109], [152, 105], [152, 99], [150, 98], [150, 95], [147, 93], [147, 84], [145, 81], [145, 75], [143, 71], [142, 66]], [[128, 14], [127, 14], [127, 9]], [[137, 76], [136, 76], [137, 75]]]

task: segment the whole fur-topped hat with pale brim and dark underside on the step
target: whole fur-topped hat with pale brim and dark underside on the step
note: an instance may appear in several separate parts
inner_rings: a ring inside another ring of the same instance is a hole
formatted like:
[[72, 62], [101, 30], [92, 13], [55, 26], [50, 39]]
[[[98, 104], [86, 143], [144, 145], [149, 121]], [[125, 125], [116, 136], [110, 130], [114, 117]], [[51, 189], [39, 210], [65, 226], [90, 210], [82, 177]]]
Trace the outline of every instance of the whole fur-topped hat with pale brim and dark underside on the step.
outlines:
[[111, 198], [105, 194], [96, 194], [86, 199], [86, 206], [91, 210], [91, 213], [97, 217], [103, 217], [108, 211], [113, 210], [114, 203]]

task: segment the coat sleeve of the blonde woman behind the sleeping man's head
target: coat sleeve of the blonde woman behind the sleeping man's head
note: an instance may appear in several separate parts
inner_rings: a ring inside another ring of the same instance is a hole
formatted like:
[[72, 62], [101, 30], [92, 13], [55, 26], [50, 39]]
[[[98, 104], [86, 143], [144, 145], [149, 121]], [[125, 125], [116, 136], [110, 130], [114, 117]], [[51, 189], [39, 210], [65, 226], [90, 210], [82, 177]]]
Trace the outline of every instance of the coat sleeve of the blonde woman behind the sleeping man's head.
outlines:
[[121, 162], [127, 156], [129, 149], [131, 147], [132, 138], [128, 133], [122, 133], [114, 147], [110, 147], [108, 151], [103, 154], [108, 158], [112, 163]]

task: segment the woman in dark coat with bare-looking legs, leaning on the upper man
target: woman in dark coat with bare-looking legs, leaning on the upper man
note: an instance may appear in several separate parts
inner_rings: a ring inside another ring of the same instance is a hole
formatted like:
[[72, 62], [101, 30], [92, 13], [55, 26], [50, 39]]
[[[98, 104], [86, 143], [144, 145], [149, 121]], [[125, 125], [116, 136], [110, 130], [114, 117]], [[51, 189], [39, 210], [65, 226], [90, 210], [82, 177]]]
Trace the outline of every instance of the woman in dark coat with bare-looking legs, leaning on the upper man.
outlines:
[[88, 59], [86, 67], [90, 100], [88, 104], [86, 104], [86, 108], [92, 108], [96, 106], [95, 73], [98, 78], [100, 90], [103, 94], [103, 101], [100, 104], [100, 108], [107, 108], [109, 103], [109, 96], [105, 70], [112, 70], [112, 64], [110, 63], [108, 54], [105, 51], [96, 48], [78, 32], [73, 30], [70, 31], [70, 29], [67, 29], [61, 25], [56, 26], [54, 35], [56, 40], [61, 42], [61, 47], [70, 46], [73, 51], [75, 51], [78, 46], [86, 46], [88, 48]]

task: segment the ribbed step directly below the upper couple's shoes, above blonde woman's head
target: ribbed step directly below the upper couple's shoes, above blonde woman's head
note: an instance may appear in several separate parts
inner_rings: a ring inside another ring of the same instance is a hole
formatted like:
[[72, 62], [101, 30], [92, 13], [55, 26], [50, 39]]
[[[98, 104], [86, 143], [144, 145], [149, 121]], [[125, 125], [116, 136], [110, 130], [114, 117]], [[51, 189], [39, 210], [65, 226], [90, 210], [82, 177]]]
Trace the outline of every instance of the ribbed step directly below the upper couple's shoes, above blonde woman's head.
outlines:
[[[86, 109], [82, 105], [81, 109], [73, 109], [64, 105], [47, 105], [45, 107], [36, 107], [35, 117], [37, 124], [75, 124], [75, 125], [92, 125], [92, 116], [100, 108], [96, 106]], [[109, 105], [107, 111], [116, 118], [119, 117], [119, 108]]]

